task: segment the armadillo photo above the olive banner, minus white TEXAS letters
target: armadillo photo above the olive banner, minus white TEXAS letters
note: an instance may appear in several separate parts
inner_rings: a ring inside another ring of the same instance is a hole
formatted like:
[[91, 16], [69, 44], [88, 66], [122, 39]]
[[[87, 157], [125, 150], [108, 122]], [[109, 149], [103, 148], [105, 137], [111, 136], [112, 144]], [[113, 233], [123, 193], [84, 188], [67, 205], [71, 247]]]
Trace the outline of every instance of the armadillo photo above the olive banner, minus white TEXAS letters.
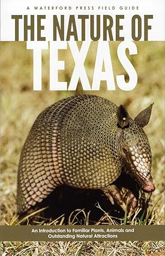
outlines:
[[[114, 78], [129, 77], [110, 42]], [[136, 42], [134, 90], [34, 91], [26, 42], [1, 43], [1, 225], [164, 224], [164, 42]], [[91, 84], [97, 42], [84, 66]], [[59, 51], [70, 81], [74, 60]], [[14, 64], [13, 64], [14, 63]], [[104, 67], [103, 67], [104, 68]], [[116, 80], [115, 80], [116, 81]]]

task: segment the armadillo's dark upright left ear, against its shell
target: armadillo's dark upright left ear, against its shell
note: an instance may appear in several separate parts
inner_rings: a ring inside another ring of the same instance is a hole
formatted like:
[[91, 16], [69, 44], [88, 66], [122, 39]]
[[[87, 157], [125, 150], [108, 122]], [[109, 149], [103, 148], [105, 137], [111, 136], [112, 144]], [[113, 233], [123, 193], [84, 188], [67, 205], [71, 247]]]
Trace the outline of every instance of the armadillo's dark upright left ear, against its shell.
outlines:
[[125, 128], [125, 126], [129, 123], [129, 115], [125, 107], [123, 105], [120, 105], [118, 107], [117, 111], [117, 117], [118, 117], [118, 125], [120, 128]]

